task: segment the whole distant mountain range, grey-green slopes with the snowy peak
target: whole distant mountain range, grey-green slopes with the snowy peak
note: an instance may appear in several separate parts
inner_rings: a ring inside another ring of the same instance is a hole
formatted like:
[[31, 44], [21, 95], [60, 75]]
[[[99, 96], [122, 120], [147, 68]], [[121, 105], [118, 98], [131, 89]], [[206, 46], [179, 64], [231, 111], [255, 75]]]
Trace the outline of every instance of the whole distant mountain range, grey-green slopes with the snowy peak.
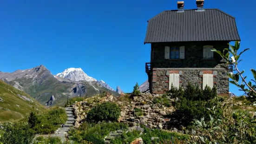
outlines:
[[53, 75], [44, 65], [15, 72], [0, 72], [0, 79], [15, 88], [28, 93], [39, 103], [50, 105], [64, 105], [67, 98], [91, 97], [99, 92], [110, 92], [106, 84], [86, 75], [81, 69], [66, 69]]

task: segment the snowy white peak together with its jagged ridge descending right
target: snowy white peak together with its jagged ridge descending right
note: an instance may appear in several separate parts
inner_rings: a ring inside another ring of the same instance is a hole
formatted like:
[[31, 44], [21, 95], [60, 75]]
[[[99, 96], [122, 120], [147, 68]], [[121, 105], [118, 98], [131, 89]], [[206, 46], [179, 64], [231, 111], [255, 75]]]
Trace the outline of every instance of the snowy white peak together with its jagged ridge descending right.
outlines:
[[[103, 86], [111, 91], [115, 91], [112, 87], [110, 87], [103, 80], [97, 80], [92, 77], [89, 77], [81, 68], [68, 68], [68, 69], [64, 70], [63, 72], [56, 74], [56, 76], [59, 76], [59, 77], [65, 78], [65, 79], [69, 79], [72, 81], [81, 81], [81, 80], [85, 80], [88, 82], [96, 81], [101, 86]], [[117, 86], [117, 89], [115, 92], [118, 92], [120, 94], [123, 91], [120, 89], [119, 86]]]

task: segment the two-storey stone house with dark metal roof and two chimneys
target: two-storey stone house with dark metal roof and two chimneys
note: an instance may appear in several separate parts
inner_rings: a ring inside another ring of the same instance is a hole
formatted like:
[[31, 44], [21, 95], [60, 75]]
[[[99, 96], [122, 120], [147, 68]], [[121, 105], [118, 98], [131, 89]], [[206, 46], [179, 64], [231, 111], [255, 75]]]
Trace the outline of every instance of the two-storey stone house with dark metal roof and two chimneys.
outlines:
[[178, 1], [177, 10], [148, 20], [144, 44], [151, 44], [151, 61], [145, 65], [151, 93], [164, 93], [171, 85], [184, 89], [189, 82], [229, 93], [232, 67], [211, 49], [222, 52], [230, 41], [240, 41], [236, 21], [219, 9], [204, 9], [203, 3], [196, 0], [197, 9], [184, 10]]

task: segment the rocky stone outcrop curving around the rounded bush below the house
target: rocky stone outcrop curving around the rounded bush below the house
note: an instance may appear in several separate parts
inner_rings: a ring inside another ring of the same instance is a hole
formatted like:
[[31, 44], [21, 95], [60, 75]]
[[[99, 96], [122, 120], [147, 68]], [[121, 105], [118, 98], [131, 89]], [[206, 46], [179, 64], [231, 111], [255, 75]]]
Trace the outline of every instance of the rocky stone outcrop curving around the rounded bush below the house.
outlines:
[[[121, 97], [125, 97], [125, 95]], [[166, 107], [159, 103], [154, 104], [153, 99], [161, 97], [160, 95], [141, 93], [138, 97], [133, 97], [131, 101], [121, 100], [121, 97], [113, 97], [107, 93], [105, 97], [96, 96], [77, 102], [74, 106], [74, 113], [77, 117], [75, 127], [78, 127], [85, 120], [87, 112], [93, 106], [102, 102], [117, 103], [121, 107], [121, 116], [118, 121], [127, 123], [129, 126], [144, 124], [149, 128], [164, 129], [166, 126], [164, 118], [175, 110], [173, 106]], [[174, 99], [171, 100], [174, 101]]]

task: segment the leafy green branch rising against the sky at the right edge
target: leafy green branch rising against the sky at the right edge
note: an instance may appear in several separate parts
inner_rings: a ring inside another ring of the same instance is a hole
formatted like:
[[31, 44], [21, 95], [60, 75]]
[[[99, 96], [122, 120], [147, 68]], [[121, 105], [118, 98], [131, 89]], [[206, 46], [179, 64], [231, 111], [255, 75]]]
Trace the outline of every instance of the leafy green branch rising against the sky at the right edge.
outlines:
[[[250, 69], [253, 74], [254, 80], [251, 79], [251, 81], [246, 81], [246, 77], [242, 75], [244, 70], [240, 71], [238, 69], [238, 64], [242, 60], [239, 60], [241, 54], [249, 50], [249, 48], [244, 49], [238, 54], [238, 50], [240, 48], [240, 41], [236, 41], [235, 46], [232, 46], [230, 44], [228, 45], [230, 46], [230, 49], [225, 48], [223, 52], [217, 51], [216, 49], [213, 49], [212, 51], [217, 52], [223, 59], [227, 61], [228, 64], [235, 67], [237, 73], [228, 73], [229, 77], [232, 79], [230, 83], [239, 87], [239, 90], [245, 92], [245, 94], [249, 97], [256, 98], [256, 85], [252, 84], [252, 82], [256, 83], [256, 71], [254, 69]], [[239, 83], [239, 78], [242, 79], [241, 84]]]

